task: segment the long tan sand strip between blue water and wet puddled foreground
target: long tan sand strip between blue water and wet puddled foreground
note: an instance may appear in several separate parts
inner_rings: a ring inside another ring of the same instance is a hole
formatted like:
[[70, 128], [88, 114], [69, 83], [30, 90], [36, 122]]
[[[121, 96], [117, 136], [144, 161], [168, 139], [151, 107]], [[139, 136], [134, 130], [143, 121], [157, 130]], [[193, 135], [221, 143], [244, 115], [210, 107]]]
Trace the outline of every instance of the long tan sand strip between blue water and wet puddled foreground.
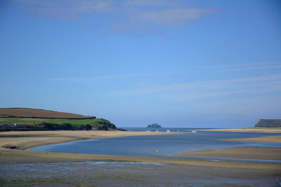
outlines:
[[53, 153], [40, 151], [23, 151], [0, 148], [0, 164], [36, 163], [36, 162], [85, 162], [85, 161], [129, 161], [129, 162], [161, 162], [176, 165], [197, 167], [226, 167], [240, 169], [274, 169], [281, 170], [281, 163], [267, 162], [230, 162], [212, 161], [191, 158], [145, 157], [130, 155], [95, 155], [78, 153]]

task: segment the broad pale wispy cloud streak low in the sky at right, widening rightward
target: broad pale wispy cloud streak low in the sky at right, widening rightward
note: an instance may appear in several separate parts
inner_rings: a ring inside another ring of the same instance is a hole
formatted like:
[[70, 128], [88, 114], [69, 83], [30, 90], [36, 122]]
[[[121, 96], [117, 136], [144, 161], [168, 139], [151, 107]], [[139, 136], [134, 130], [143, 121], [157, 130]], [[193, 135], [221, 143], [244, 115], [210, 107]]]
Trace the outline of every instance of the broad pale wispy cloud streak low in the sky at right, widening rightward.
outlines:
[[195, 97], [214, 97], [215, 95], [230, 95], [243, 92], [261, 93], [261, 90], [265, 90], [266, 92], [281, 90], [281, 75], [233, 78], [215, 81], [195, 81], [147, 87], [141, 86], [141, 88], [132, 90], [118, 91], [113, 95], [145, 95], [157, 93], [165, 98], [171, 99], [173, 97], [174, 100], [178, 100], [184, 96], [188, 97], [192, 95]]

